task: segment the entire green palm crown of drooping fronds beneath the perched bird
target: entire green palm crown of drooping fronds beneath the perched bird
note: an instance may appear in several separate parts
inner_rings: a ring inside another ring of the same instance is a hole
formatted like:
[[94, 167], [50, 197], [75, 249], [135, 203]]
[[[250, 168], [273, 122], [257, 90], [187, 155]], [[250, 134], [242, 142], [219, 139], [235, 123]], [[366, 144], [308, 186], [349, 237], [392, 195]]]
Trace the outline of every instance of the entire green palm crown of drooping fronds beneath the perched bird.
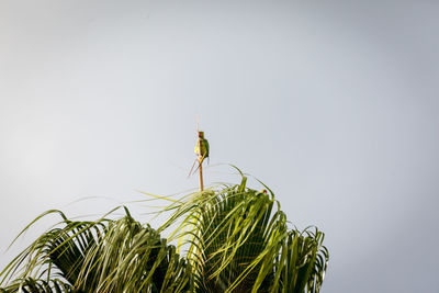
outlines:
[[[289, 229], [271, 191], [249, 189], [243, 177], [170, 201], [157, 230], [126, 209], [116, 221], [43, 214], [63, 221], [1, 272], [0, 292], [319, 292], [324, 234]], [[177, 248], [160, 238], [165, 230]]]

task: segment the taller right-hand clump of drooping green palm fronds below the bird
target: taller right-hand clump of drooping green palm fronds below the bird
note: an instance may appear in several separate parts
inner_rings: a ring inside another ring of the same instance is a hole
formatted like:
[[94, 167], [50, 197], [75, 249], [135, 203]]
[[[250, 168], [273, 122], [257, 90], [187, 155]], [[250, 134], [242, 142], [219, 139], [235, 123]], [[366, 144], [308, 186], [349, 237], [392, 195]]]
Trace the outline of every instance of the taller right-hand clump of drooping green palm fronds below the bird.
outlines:
[[[327, 263], [323, 233], [289, 230], [273, 194], [237, 185], [172, 203], [171, 235], [189, 246], [196, 292], [318, 292]], [[160, 230], [159, 229], [159, 230]]]

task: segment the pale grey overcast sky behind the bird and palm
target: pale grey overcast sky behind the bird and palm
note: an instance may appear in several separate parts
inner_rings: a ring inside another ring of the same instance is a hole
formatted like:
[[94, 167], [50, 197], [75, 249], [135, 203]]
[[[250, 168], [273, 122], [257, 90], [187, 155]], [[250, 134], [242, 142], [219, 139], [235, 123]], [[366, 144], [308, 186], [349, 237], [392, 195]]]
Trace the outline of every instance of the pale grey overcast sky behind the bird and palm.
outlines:
[[0, 266], [45, 210], [196, 188], [200, 114], [207, 183], [239, 180], [215, 166], [234, 164], [326, 233], [323, 292], [438, 292], [438, 15], [437, 1], [1, 1]]

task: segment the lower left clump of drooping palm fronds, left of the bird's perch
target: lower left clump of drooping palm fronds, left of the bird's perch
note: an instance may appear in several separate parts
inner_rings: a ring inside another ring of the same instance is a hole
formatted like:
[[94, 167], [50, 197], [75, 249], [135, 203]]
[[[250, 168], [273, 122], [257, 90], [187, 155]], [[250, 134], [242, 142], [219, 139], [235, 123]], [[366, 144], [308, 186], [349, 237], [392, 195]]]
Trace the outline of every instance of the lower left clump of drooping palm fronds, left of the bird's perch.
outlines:
[[38, 237], [3, 270], [3, 282], [10, 283], [4, 290], [184, 292], [192, 285], [190, 267], [176, 248], [128, 212], [117, 221], [65, 218], [59, 226]]

